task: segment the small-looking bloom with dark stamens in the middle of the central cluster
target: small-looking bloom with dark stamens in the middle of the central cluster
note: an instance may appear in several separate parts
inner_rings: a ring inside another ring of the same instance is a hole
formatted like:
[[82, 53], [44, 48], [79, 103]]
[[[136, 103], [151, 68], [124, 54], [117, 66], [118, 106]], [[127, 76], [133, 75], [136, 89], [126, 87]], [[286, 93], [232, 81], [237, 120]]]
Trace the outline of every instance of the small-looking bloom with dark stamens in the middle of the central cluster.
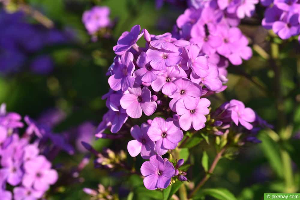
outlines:
[[158, 75], [157, 79], [151, 83], [151, 87], [154, 91], [165, 95], [172, 95], [177, 91], [177, 87], [174, 81], [181, 78], [180, 69], [177, 66], [167, 67], [167, 72]]

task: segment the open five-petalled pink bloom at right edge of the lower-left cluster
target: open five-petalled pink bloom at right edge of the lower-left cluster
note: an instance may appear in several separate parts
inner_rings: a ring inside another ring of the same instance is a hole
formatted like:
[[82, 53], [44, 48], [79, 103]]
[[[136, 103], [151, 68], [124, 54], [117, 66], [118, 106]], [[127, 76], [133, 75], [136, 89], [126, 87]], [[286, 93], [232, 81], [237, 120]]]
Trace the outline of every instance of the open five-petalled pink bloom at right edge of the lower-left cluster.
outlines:
[[25, 162], [24, 170], [22, 184], [27, 188], [33, 186], [35, 190], [46, 191], [58, 179], [57, 172], [51, 169], [51, 163], [44, 156]]

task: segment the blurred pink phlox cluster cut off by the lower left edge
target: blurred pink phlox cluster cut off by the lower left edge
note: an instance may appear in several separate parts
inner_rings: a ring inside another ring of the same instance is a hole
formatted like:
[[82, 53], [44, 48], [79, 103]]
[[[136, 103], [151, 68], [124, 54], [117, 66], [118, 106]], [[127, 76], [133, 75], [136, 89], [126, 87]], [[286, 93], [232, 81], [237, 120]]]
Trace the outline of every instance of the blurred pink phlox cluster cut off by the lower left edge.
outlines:
[[[46, 158], [46, 155], [52, 155], [53, 148], [46, 146], [44, 137], [36, 138], [31, 134], [34, 131], [42, 136], [44, 131], [29, 125], [20, 137], [19, 128], [23, 127], [21, 119], [17, 113], [7, 113], [5, 104], [1, 105], [0, 196], [4, 200], [11, 200], [12, 196], [16, 200], [40, 199], [58, 179], [57, 171], [52, 169], [49, 158]], [[13, 195], [6, 190], [7, 184], [13, 187]]]

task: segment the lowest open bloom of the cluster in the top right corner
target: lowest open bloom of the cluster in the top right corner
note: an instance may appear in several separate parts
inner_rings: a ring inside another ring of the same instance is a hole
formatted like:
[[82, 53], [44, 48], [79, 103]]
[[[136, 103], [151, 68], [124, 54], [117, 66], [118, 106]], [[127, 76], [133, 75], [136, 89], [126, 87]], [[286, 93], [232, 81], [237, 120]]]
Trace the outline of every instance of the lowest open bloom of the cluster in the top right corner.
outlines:
[[298, 17], [299, 14], [292, 14], [287, 17], [286, 21], [274, 22], [272, 26], [273, 31], [283, 40], [299, 34], [300, 25]]

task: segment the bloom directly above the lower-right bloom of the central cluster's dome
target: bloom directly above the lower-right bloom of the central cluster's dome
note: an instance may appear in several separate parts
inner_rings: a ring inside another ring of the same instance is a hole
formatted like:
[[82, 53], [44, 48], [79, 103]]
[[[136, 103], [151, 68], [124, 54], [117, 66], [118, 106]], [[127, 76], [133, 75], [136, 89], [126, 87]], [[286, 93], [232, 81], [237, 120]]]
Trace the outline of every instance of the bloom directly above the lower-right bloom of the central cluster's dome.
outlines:
[[176, 80], [174, 83], [177, 86], [177, 91], [169, 96], [170, 98], [173, 98], [169, 103], [170, 108], [175, 111], [176, 102], [179, 99], [183, 100], [184, 105], [188, 109], [196, 108], [199, 98], [202, 95], [202, 88], [196, 83], [192, 83], [190, 79], [187, 78]]

